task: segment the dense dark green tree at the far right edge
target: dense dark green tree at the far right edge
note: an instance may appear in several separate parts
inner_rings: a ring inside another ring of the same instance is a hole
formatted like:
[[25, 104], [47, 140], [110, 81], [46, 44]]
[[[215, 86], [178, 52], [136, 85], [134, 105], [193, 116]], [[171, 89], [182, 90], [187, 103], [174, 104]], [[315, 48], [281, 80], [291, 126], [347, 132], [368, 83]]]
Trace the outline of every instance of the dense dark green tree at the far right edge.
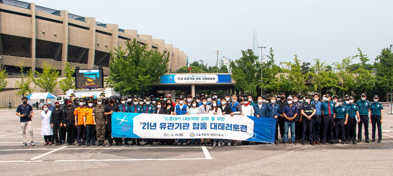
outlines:
[[393, 89], [393, 54], [389, 48], [382, 49], [380, 55], [375, 58], [376, 84], [387, 94]]

